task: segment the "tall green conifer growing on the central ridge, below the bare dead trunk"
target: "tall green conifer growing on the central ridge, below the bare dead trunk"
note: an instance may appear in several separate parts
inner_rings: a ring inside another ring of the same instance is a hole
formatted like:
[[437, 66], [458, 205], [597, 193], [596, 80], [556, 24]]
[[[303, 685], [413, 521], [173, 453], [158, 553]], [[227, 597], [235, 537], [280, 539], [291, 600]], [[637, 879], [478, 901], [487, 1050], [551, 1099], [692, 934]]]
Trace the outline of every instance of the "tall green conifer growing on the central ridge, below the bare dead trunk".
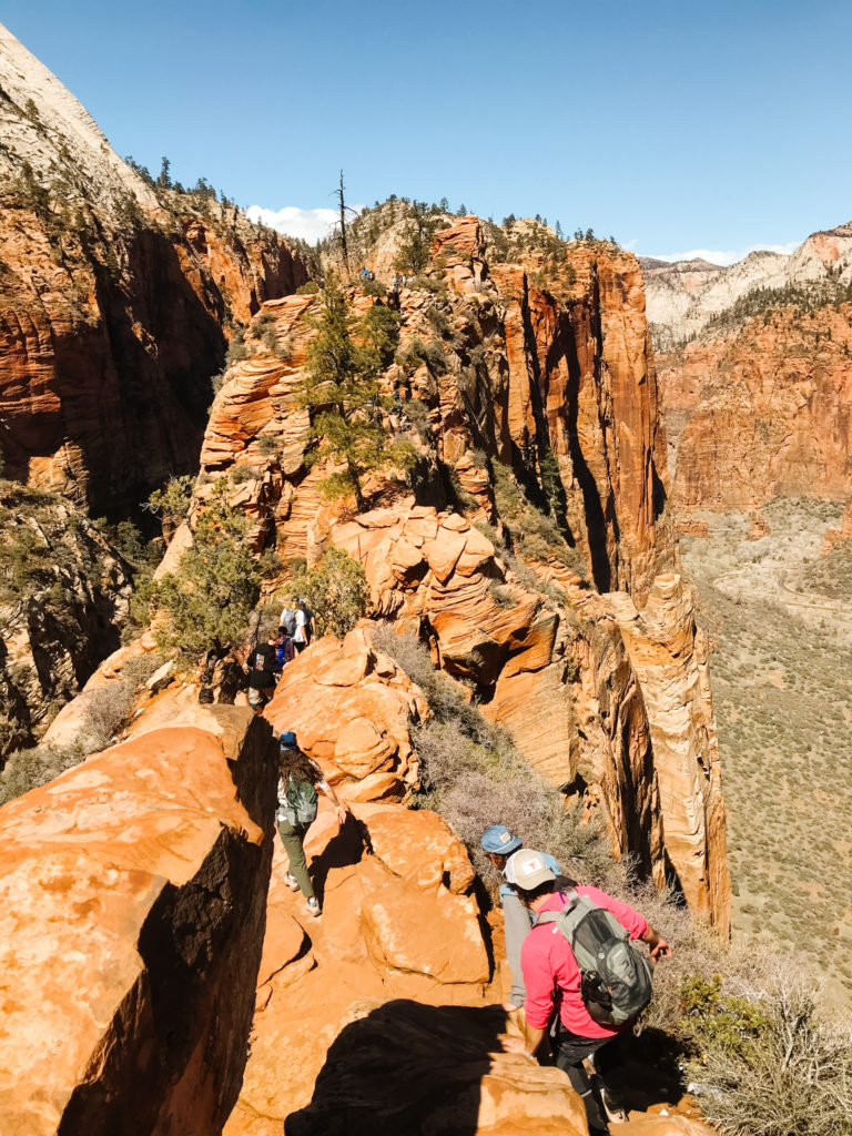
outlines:
[[327, 460], [340, 468], [321, 482], [327, 496], [354, 494], [364, 512], [365, 474], [387, 463], [407, 468], [414, 449], [386, 429], [378, 376], [393, 358], [399, 317], [376, 303], [356, 320], [346, 296], [333, 277], [320, 294], [316, 320], [319, 334], [308, 349], [307, 377], [300, 401], [311, 415], [307, 460]]

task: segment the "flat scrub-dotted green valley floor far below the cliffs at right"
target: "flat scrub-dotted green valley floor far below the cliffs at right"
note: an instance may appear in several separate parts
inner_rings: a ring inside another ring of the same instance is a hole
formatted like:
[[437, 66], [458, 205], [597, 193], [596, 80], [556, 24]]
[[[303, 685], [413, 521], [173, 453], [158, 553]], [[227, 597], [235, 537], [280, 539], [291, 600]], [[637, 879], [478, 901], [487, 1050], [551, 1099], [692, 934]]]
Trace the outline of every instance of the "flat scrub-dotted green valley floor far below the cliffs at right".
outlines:
[[728, 811], [734, 937], [812, 960], [852, 1004], [852, 545], [822, 557], [829, 502], [779, 499], [683, 537], [711, 678]]

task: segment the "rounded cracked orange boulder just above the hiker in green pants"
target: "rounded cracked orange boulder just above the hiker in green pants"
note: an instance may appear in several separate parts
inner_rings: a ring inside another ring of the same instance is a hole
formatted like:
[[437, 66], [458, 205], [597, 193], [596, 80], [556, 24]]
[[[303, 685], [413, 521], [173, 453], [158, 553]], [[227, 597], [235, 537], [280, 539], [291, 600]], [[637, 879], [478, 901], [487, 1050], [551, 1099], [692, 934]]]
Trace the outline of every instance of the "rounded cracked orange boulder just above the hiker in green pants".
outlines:
[[417, 784], [410, 728], [428, 707], [392, 659], [361, 628], [327, 635], [284, 668], [264, 711], [276, 734], [301, 749], [346, 799], [401, 801]]

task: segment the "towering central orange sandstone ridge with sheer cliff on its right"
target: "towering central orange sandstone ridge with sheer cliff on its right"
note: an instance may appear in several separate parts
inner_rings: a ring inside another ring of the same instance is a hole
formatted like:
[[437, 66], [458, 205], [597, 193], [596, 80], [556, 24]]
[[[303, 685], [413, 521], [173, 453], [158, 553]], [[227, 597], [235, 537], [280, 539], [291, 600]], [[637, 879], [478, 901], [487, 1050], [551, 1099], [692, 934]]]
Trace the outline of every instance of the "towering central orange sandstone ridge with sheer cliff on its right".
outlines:
[[[673, 817], [669, 840], [660, 797], [679, 792], [683, 765], [669, 769], [654, 749], [642, 683], [599, 594], [624, 591], [643, 607], [676, 563], [638, 267], [609, 248], [574, 249], [573, 291], [557, 300], [523, 266], [490, 266], [485, 251], [479, 220], [458, 220], [433, 242], [431, 286], [399, 295], [398, 350], [381, 382], [389, 395], [402, 392], [384, 425], [417, 453], [408, 484], [393, 470], [369, 474], [360, 515], [320, 492], [328, 470], [306, 460], [301, 391], [321, 298], [302, 295], [262, 309], [287, 358], [256, 343], [228, 370], [197, 499], [224, 477], [258, 549], [315, 562], [336, 545], [359, 560], [370, 613], [431, 642], [435, 662], [473, 686], [534, 766], [600, 810], [617, 854], [659, 883], [680, 880], [725, 928], [724, 826]], [[346, 295], [359, 315], [383, 302], [353, 286]], [[548, 508], [549, 466], [550, 516], [561, 510], [563, 535], [518, 503]], [[691, 617], [682, 630], [694, 640]], [[683, 694], [684, 704], [696, 700], [711, 720], [708, 690]], [[695, 768], [692, 808], [718, 818], [711, 744], [707, 732], [692, 735], [685, 760]], [[718, 866], [712, 895], [710, 877], [687, 868], [708, 857]]]

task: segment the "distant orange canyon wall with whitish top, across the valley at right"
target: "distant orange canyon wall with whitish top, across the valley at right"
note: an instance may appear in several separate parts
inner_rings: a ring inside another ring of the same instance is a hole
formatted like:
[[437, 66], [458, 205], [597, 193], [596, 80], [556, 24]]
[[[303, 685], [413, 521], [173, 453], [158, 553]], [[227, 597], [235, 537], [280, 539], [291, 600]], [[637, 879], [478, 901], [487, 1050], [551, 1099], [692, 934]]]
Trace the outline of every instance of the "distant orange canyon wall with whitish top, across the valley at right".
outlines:
[[729, 268], [643, 261], [679, 510], [852, 490], [852, 225]]

